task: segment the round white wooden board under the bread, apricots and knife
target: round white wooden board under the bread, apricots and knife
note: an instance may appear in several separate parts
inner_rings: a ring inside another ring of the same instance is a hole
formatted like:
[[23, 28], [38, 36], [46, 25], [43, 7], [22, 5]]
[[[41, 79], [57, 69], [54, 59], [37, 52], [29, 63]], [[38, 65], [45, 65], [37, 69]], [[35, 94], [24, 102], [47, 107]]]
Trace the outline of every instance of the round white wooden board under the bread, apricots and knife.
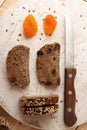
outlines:
[[[80, 10], [78, 10], [78, 8]], [[55, 13], [54, 13], [55, 12]], [[25, 38], [22, 23], [28, 14], [33, 14], [38, 22], [38, 33], [33, 38]], [[74, 32], [74, 59], [77, 75], [75, 78], [76, 115], [75, 126], [87, 121], [87, 8], [85, 2], [77, 0], [66, 5], [58, 0], [20, 0], [0, 17], [0, 105], [18, 121], [49, 130], [65, 130], [68, 127], [63, 121], [64, 99], [64, 16], [68, 13], [72, 20]], [[80, 17], [80, 14], [84, 14]], [[43, 19], [47, 14], [57, 17], [58, 25], [52, 36], [46, 36], [43, 31]], [[85, 28], [84, 28], [85, 27]], [[6, 31], [7, 30], [7, 31]], [[22, 34], [19, 37], [19, 34]], [[41, 33], [43, 35], [41, 36]], [[41, 40], [40, 40], [41, 38]], [[60, 78], [61, 83], [56, 89], [40, 85], [36, 76], [36, 53], [47, 43], [59, 42], [60, 53]], [[6, 57], [9, 50], [18, 44], [30, 47], [30, 85], [25, 89], [11, 88], [6, 75]], [[23, 95], [59, 95], [59, 110], [50, 116], [23, 116], [19, 109], [19, 98]]]

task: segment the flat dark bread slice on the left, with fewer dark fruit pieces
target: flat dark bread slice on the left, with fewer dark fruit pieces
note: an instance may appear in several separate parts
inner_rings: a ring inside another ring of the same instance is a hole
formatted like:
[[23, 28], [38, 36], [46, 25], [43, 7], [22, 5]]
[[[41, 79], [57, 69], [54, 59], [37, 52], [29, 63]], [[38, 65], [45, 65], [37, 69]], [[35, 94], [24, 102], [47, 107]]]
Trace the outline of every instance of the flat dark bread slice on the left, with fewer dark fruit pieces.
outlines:
[[24, 45], [13, 47], [7, 56], [7, 76], [11, 86], [25, 88], [30, 83], [29, 76], [30, 48]]

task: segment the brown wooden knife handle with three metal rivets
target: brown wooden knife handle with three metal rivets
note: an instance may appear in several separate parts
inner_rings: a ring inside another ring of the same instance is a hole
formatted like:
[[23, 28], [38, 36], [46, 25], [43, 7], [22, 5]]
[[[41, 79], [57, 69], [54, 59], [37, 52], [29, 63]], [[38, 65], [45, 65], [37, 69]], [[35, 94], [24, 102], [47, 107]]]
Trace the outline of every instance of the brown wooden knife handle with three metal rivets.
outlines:
[[75, 88], [74, 79], [76, 75], [75, 68], [65, 69], [65, 91], [64, 91], [64, 122], [67, 126], [73, 126], [77, 121], [75, 114]]

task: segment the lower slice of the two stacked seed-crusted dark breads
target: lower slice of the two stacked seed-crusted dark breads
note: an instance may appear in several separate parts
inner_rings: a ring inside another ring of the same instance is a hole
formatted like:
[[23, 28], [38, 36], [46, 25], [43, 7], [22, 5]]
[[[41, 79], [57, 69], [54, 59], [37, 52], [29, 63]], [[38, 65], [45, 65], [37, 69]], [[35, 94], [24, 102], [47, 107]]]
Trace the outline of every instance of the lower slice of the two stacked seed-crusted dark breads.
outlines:
[[22, 107], [22, 113], [24, 115], [48, 115], [57, 112], [58, 105], [42, 106], [42, 107]]

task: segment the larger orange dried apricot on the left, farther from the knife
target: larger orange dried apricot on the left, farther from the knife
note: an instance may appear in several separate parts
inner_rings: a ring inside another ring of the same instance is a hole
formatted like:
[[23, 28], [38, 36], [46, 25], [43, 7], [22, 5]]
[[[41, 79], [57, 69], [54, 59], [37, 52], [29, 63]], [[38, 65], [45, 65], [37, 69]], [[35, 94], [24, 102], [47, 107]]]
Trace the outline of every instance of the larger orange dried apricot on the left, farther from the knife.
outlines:
[[38, 31], [38, 25], [35, 17], [29, 14], [23, 22], [24, 35], [26, 37], [33, 37]]

